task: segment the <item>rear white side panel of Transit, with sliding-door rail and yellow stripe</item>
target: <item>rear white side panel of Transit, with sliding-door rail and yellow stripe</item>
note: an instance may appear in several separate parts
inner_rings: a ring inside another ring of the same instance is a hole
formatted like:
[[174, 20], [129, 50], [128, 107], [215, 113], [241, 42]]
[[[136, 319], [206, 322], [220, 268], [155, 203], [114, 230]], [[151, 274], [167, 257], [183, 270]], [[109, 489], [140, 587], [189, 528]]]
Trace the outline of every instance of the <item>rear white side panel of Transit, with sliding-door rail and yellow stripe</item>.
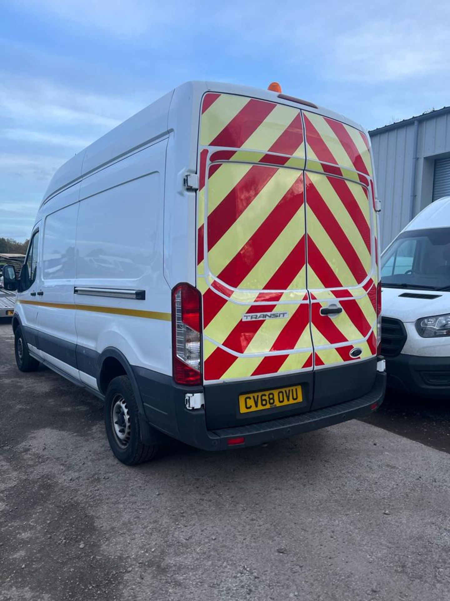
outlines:
[[[76, 238], [76, 330], [95, 373], [107, 347], [130, 365], [172, 371], [170, 290], [163, 277], [163, 182], [167, 139], [85, 178]], [[90, 293], [106, 288], [106, 293]], [[139, 291], [140, 299], [115, 290]], [[145, 296], [145, 299], [143, 299]], [[85, 367], [88, 369], [88, 367]], [[86, 373], [86, 372], [85, 372]]]

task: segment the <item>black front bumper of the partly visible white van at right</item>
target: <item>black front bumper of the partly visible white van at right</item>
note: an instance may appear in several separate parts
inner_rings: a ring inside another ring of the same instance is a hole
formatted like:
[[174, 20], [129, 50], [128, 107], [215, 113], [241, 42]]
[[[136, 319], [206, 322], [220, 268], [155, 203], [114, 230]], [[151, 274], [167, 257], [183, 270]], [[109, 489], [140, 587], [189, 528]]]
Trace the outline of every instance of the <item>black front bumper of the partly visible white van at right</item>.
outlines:
[[450, 397], [450, 357], [386, 357], [388, 386], [428, 398]]

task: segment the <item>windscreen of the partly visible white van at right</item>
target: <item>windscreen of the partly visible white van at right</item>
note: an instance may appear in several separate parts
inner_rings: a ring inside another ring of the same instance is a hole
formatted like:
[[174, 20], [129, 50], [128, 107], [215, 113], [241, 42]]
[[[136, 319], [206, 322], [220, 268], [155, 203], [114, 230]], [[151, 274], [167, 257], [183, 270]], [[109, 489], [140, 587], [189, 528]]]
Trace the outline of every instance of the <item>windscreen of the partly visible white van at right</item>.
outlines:
[[382, 285], [450, 290], [450, 228], [406, 231], [382, 256]]

